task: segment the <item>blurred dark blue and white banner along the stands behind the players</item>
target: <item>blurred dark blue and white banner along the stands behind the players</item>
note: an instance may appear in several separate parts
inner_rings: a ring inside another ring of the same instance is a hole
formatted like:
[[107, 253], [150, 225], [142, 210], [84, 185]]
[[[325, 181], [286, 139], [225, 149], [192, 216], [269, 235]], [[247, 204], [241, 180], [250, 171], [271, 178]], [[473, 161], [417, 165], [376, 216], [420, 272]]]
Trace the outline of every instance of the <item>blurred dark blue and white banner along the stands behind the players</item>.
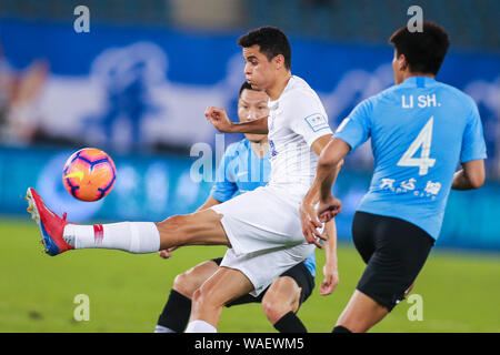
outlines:
[[[96, 23], [89, 33], [76, 33], [71, 22], [0, 20], [0, 75], [30, 88], [22, 101], [3, 100], [10, 110], [0, 140], [29, 144], [42, 136], [123, 150], [213, 144], [214, 130], [203, 112], [222, 106], [237, 119], [244, 80], [241, 34]], [[317, 90], [332, 126], [362, 99], [393, 83], [389, 44], [290, 40], [292, 73]], [[478, 103], [490, 176], [500, 175], [499, 68], [498, 54], [452, 51], [438, 75]], [[370, 166], [369, 144], [347, 163]]]

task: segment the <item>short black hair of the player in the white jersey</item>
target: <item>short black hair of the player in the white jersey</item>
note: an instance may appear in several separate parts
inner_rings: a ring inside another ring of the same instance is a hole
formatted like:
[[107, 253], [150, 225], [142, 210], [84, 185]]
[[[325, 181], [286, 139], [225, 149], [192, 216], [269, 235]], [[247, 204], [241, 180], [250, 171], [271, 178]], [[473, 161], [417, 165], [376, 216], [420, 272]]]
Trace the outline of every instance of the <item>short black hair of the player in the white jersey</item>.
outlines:
[[276, 55], [284, 57], [284, 67], [291, 68], [291, 48], [287, 36], [276, 27], [260, 27], [251, 30], [238, 39], [238, 45], [249, 48], [258, 44], [260, 52], [264, 54], [269, 61]]

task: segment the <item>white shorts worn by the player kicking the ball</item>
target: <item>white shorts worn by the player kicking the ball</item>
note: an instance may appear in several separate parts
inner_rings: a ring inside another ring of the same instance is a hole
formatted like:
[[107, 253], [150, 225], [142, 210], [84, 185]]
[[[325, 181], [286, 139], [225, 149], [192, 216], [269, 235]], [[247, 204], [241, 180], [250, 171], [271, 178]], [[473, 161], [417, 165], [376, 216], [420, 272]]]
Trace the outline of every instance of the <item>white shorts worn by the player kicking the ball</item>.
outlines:
[[301, 200], [267, 185], [211, 207], [223, 215], [221, 224], [231, 243], [221, 266], [241, 271], [253, 284], [254, 296], [314, 251], [302, 234]]

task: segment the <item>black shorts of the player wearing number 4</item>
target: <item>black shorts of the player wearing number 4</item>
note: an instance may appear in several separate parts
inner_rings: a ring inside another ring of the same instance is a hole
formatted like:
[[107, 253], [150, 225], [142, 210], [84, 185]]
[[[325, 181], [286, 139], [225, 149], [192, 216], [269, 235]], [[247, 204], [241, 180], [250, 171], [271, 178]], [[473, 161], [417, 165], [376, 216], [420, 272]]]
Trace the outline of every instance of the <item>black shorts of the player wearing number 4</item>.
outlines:
[[389, 312], [404, 298], [434, 244], [410, 222], [359, 211], [352, 221], [352, 240], [367, 263], [358, 291]]

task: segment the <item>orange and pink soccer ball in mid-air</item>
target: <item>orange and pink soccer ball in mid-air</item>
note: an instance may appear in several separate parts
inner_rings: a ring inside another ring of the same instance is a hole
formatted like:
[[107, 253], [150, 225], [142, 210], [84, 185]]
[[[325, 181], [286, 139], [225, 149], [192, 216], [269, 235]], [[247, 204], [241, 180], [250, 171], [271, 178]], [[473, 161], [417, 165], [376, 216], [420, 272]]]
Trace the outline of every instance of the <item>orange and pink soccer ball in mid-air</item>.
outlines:
[[62, 170], [66, 190], [81, 201], [98, 201], [113, 189], [117, 168], [107, 153], [96, 148], [74, 152]]

